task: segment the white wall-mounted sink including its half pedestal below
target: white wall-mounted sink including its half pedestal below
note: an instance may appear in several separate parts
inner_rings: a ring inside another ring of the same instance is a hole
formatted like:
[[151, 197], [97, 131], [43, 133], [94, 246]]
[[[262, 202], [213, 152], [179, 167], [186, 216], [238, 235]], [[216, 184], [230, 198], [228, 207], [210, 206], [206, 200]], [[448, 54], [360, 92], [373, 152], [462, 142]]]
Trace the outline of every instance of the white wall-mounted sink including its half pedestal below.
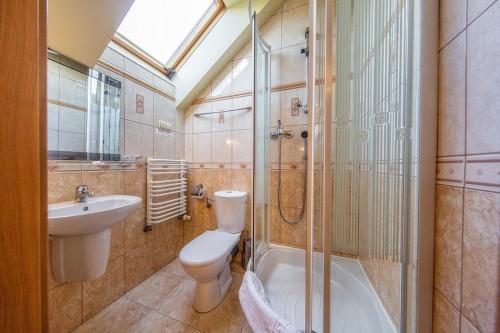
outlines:
[[103, 275], [109, 259], [111, 227], [141, 204], [130, 195], [105, 195], [85, 202], [49, 205], [52, 270], [58, 281], [88, 281]]

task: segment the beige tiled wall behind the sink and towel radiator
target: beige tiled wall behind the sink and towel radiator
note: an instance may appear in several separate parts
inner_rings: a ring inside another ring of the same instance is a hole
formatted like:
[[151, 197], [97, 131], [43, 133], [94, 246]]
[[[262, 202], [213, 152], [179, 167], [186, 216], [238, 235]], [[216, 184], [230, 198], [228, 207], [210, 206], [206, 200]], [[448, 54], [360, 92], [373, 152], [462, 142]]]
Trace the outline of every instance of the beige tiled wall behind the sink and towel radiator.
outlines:
[[[184, 119], [176, 113], [174, 101], [166, 97], [173, 96], [173, 86], [111, 48], [101, 60], [96, 69], [122, 82], [122, 155], [183, 158]], [[144, 114], [135, 112], [136, 94], [144, 96]], [[64, 111], [57, 111], [61, 117]], [[159, 131], [160, 119], [171, 122], [174, 130]], [[53, 278], [49, 262], [50, 331], [69, 332], [175, 259], [183, 245], [183, 223], [174, 219], [144, 233], [144, 162], [94, 165], [90, 161], [49, 161], [48, 169], [49, 204], [74, 200], [79, 184], [87, 184], [98, 196], [128, 194], [143, 199], [142, 207], [112, 228], [108, 268], [102, 277], [61, 283]]]

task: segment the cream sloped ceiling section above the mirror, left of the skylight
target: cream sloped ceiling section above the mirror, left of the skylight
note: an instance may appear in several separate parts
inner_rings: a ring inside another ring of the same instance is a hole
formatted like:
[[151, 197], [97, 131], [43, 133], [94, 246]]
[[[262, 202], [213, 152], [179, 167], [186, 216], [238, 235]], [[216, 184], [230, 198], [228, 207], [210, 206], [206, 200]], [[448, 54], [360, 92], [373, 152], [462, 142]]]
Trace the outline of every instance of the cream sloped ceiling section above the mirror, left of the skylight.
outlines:
[[49, 0], [49, 48], [93, 67], [134, 0]]

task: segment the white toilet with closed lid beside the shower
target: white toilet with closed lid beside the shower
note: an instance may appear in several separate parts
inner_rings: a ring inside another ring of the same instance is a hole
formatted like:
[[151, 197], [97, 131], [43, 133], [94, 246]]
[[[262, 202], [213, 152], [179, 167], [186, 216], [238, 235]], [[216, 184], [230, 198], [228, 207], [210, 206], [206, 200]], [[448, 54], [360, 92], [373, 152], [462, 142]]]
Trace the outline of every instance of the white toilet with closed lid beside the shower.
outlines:
[[246, 223], [246, 192], [219, 191], [214, 197], [217, 230], [205, 231], [179, 253], [182, 267], [197, 282], [193, 307], [198, 312], [215, 308], [231, 287], [231, 251]]

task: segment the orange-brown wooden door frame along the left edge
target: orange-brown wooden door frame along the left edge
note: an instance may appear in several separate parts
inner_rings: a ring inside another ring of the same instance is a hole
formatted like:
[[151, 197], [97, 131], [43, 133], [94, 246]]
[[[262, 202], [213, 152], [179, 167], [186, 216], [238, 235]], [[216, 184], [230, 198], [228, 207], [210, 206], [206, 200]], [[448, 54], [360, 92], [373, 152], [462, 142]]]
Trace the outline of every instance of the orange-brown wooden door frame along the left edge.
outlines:
[[46, 332], [47, 0], [0, 1], [0, 331]]

